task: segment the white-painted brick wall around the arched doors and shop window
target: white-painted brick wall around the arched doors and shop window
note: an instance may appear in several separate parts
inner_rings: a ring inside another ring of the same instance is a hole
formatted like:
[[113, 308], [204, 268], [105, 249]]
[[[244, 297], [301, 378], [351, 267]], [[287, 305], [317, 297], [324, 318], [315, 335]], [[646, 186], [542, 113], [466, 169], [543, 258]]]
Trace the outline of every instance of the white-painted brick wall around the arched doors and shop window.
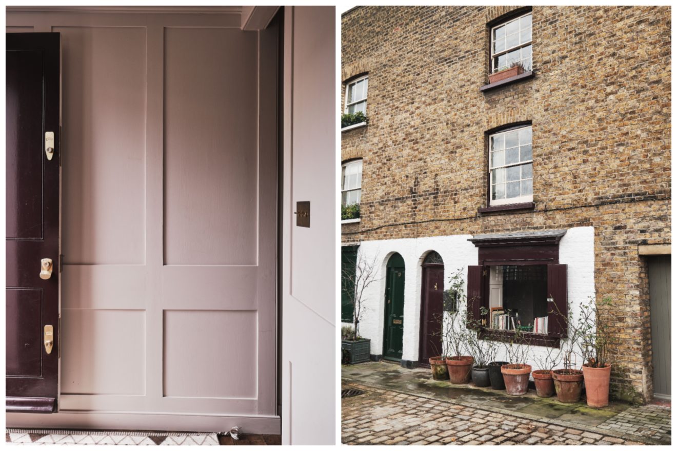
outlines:
[[[447, 235], [410, 239], [364, 241], [360, 243], [357, 258], [368, 262], [376, 259], [378, 272], [364, 298], [364, 315], [359, 322], [359, 335], [371, 339], [370, 354], [383, 354], [383, 314], [385, 312], [386, 265], [389, 258], [399, 253], [405, 263], [404, 319], [402, 360], [418, 361], [418, 341], [421, 308], [421, 263], [430, 251], [437, 252], [444, 261], [445, 289], [452, 275], [460, 268], [465, 279], [467, 293], [468, 265], [477, 264], [477, 247], [470, 241], [472, 235]], [[595, 295], [594, 289], [594, 228], [574, 227], [568, 229], [559, 243], [559, 262], [567, 265], [567, 299], [577, 321], [580, 304]], [[343, 323], [344, 326], [349, 325]], [[545, 348], [535, 346], [533, 353]], [[505, 360], [504, 350], [499, 350], [498, 360]], [[579, 358], [580, 360], [580, 358]], [[536, 362], [527, 362], [538, 366]], [[580, 366], [582, 362], [576, 362]]]

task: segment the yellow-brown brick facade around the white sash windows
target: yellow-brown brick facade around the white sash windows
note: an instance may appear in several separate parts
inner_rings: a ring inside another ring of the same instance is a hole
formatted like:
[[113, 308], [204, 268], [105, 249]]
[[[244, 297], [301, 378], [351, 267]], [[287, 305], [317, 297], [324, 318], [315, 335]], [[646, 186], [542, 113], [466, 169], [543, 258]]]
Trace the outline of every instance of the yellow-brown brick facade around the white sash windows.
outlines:
[[[362, 219], [342, 241], [594, 227], [594, 283], [613, 298], [612, 389], [653, 394], [647, 260], [670, 236], [670, 7], [533, 7], [533, 78], [488, 82], [487, 22], [512, 7], [357, 7], [343, 80], [369, 74]], [[485, 132], [533, 129], [535, 207], [487, 207]]]

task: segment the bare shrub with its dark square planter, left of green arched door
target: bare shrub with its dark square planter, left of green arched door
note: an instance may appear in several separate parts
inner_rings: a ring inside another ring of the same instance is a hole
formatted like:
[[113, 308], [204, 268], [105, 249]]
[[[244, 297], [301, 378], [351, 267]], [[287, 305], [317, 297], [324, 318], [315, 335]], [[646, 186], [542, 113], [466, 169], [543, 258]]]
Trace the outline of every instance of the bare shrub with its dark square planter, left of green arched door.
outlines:
[[[355, 273], [345, 271], [345, 277], [350, 283], [345, 284], [345, 293], [349, 302], [353, 304], [353, 327], [347, 331], [346, 337], [341, 339], [341, 362], [349, 364], [367, 362], [371, 348], [371, 340], [359, 336], [359, 319], [364, 314], [366, 304], [366, 289], [376, 281], [376, 261], [364, 260], [362, 254], [357, 255]], [[341, 329], [343, 332], [343, 329]]]

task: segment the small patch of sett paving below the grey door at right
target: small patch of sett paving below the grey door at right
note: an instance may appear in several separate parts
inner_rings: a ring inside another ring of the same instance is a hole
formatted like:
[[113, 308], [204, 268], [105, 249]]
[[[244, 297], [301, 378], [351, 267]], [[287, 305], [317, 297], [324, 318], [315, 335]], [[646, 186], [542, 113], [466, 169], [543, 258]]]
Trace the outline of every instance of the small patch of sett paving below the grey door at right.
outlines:
[[632, 433], [670, 443], [672, 409], [666, 406], [641, 406], [629, 408], [598, 425], [600, 429]]

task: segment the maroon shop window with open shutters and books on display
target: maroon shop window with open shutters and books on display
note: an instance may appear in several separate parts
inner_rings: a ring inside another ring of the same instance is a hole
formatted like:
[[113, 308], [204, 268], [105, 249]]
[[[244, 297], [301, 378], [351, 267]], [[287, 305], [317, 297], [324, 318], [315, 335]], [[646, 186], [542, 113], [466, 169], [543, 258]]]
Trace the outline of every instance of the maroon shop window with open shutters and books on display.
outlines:
[[559, 347], [566, 335], [567, 265], [559, 264], [565, 230], [475, 235], [478, 264], [468, 266], [468, 308], [485, 339]]

